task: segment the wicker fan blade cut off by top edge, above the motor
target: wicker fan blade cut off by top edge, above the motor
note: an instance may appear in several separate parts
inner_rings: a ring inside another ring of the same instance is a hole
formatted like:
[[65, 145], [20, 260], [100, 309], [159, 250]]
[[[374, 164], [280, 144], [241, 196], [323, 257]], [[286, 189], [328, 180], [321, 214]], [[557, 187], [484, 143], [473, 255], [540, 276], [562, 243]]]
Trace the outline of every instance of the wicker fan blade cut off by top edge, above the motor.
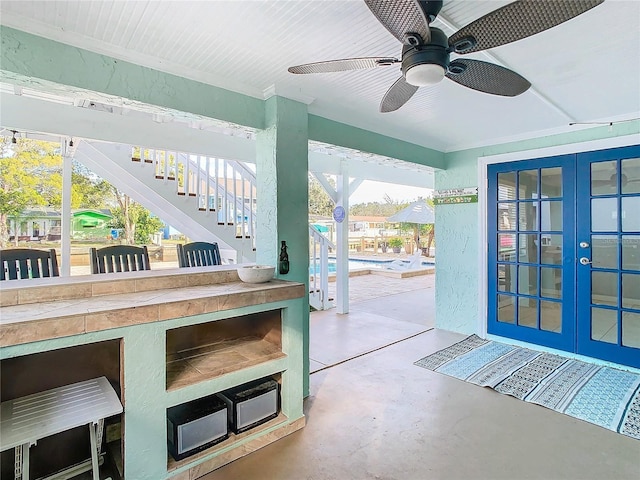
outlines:
[[378, 21], [391, 35], [405, 43], [405, 33], [417, 33], [425, 43], [431, 40], [429, 23], [415, 0], [365, 0]]

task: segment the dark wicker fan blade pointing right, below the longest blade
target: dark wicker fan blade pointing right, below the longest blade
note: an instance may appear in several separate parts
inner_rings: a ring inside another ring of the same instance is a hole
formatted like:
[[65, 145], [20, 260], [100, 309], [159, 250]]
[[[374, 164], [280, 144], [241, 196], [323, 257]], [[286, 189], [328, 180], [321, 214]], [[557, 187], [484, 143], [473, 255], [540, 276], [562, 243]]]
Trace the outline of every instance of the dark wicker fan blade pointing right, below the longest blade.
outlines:
[[[456, 70], [462, 72], [452, 73]], [[465, 87], [503, 97], [515, 97], [531, 86], [526, 78], [508, 68], [467, 58], [451, 62], [446, 77]]]

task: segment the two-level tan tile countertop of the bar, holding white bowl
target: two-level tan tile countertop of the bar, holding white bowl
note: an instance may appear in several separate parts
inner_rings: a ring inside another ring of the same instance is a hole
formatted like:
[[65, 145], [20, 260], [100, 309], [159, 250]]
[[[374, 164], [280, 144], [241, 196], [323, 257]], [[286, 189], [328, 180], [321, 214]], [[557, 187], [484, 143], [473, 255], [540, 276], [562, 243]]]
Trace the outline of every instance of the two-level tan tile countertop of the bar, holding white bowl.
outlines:
[[301, 283], [249, 284], [216, 266], [8, 281], [0, 347], [301, 298]]

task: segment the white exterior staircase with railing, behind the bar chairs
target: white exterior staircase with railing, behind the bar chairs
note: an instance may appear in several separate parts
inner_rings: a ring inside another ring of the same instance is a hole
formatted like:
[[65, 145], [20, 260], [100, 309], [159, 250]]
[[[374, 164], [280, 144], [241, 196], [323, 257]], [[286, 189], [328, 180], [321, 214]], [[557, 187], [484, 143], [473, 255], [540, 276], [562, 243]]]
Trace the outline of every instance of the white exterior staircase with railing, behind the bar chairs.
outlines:
[[226, 262], [255, 261], [256, 178], [241, 162], [87, 141], [75, 158]]

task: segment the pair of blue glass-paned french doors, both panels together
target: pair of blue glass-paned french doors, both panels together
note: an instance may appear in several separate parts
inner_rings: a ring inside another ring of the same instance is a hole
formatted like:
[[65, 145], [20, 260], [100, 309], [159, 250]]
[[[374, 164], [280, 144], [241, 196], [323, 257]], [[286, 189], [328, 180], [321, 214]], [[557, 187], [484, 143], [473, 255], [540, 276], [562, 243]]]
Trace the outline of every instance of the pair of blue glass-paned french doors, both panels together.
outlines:
[[640, 146], [488, 167], [488, 332], [640, 367]]

